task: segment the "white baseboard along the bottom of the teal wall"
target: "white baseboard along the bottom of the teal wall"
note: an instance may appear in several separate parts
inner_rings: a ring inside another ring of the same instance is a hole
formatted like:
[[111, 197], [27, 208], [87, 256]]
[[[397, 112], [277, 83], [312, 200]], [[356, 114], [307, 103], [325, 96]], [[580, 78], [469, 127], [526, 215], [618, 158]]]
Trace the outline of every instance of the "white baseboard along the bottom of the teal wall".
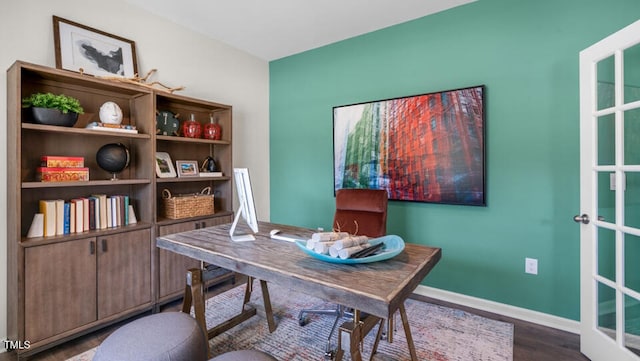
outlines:
[[431, 297], [437, 300], [472, 307], [482, 311], [497, 313], [542, 326], [556, 328], [562, 331], [575, 334], [580, 333], [580, 322], [570, 320], [568, 318], [553, 316], [538, 311], [528, 310], [526, 308], [506, 305], [504, 303], [488, 301], [482, 298], [466, 296], [460, 293], [444, 291], [422, 285], [418, 286], [414, 292], [425, 297]]

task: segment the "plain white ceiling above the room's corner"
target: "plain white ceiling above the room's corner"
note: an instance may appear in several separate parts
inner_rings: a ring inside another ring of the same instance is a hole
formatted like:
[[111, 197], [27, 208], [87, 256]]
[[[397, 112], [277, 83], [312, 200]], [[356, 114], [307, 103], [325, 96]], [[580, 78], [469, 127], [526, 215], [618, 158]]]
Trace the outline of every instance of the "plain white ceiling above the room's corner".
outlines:
[[274, 60], [476, 0], [126, 0]]

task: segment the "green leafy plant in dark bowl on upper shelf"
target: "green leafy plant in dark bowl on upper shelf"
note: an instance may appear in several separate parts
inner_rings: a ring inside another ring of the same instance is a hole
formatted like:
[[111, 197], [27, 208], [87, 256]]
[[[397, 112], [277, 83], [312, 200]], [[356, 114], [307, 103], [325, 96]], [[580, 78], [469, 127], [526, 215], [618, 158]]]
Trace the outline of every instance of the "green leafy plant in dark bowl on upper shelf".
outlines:
[[22, 107], [31, 108], [37, 124], [65, 127], [73, 127], [84, 113], [78, 99], [64, 94], [34, 93], [22, 99]]

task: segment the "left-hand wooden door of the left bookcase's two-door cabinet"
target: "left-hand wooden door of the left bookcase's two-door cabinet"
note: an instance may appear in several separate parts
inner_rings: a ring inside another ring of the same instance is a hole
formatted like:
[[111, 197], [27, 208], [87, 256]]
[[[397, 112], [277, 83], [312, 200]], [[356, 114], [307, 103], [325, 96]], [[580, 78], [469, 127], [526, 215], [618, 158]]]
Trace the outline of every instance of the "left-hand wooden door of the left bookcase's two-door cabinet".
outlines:
[[96, 320], [95, 238], [25, 248], [25, 340]]

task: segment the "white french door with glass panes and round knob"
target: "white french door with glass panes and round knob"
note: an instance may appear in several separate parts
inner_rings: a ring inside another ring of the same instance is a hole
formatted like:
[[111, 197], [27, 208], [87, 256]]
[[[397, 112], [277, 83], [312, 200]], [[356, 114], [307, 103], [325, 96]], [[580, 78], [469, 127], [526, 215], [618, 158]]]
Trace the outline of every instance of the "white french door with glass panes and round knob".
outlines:
[[640, 360], [640, 21], [580, 52], [581, 351]]

